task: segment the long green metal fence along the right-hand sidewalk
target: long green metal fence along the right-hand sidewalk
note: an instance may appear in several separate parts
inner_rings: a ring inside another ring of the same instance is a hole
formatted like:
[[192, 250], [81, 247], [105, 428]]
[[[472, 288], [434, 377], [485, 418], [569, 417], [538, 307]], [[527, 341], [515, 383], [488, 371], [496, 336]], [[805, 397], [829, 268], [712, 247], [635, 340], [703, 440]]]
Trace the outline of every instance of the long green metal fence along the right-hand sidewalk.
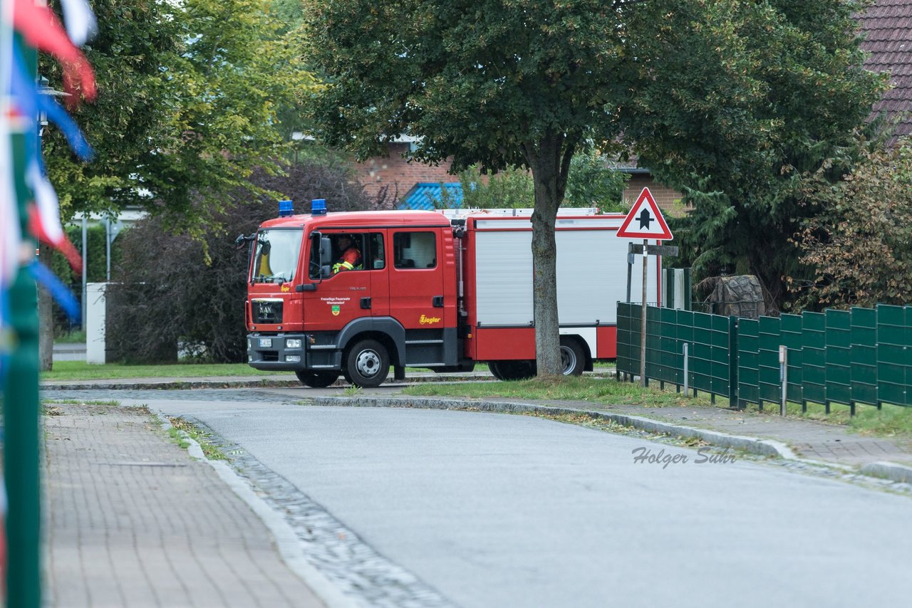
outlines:
[[[639, 374], [640, 305], [617, 304], [617, 371]], [[912, 406], [912, 306], [739, 319], [647, 306], [646, 376], [728, 397]]]

